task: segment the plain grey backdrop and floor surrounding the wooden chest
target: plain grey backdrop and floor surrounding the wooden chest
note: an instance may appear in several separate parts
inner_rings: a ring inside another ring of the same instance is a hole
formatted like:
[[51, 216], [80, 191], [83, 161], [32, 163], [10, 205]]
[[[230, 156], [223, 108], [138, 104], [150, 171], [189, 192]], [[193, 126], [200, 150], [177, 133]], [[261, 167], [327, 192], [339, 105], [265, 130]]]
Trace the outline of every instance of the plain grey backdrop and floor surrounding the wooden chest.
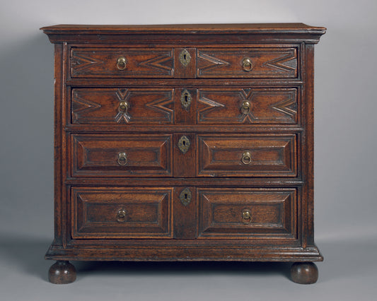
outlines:
[[[375, 0], [2, 1], [0, 295], [4, 300], [66, 300], [73, 294], [81, 300], [374, 300], [376, 14]], [[289, 282], [284, 264], [80, 262], [75, 283], [48, 283], [52, 262], [43, 256], [53, 235], [53, 47], [39, 28], [267, 22], [327, 27], [315, 49], [315, 237], [325, 256], [318, 283]]]

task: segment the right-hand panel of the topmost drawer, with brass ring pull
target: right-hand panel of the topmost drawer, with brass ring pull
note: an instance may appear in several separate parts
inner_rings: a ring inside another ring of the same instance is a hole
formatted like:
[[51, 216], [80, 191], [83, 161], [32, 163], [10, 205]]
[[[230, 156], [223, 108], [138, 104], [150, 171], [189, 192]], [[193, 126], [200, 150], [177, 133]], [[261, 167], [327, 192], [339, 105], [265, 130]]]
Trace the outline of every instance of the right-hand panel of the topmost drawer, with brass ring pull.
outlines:
[[297, 66], [294, 47], [197, 49], [199, 78], [296, 78]]

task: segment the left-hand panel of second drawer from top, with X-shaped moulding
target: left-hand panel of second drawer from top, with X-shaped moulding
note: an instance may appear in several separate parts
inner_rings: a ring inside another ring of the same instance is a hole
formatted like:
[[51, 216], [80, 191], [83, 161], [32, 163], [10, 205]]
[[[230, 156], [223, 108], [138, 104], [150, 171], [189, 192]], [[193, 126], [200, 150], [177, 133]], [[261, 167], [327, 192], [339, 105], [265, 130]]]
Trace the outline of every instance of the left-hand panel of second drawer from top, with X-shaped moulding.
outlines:
[[73, 124], [173, 124], [173, 89], [75, 88]]

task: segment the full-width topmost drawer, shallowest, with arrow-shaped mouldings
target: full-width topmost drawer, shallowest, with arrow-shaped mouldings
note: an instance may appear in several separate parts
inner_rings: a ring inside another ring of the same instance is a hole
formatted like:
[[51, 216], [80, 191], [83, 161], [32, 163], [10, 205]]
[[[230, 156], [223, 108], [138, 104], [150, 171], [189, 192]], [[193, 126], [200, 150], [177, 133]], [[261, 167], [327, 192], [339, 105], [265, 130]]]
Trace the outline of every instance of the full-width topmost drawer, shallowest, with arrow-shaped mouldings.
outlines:
[[[296, 47], [182, 49], [72, 47], [72, 78], [297, 78]], [[195, 59], [196, 58], [196, 59]], [[197, 74], [195, 76], [195, 69]]]

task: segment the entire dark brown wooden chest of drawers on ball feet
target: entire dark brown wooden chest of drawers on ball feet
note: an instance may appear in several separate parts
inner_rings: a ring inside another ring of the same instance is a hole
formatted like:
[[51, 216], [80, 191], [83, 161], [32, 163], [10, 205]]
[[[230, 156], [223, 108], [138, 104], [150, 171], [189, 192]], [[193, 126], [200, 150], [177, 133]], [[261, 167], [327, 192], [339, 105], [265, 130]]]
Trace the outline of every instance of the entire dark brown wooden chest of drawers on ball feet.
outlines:
[[294, 24], [54, 25], [52, 283], [70, 260], [291, 261], [313, 283], [313, 48]]

